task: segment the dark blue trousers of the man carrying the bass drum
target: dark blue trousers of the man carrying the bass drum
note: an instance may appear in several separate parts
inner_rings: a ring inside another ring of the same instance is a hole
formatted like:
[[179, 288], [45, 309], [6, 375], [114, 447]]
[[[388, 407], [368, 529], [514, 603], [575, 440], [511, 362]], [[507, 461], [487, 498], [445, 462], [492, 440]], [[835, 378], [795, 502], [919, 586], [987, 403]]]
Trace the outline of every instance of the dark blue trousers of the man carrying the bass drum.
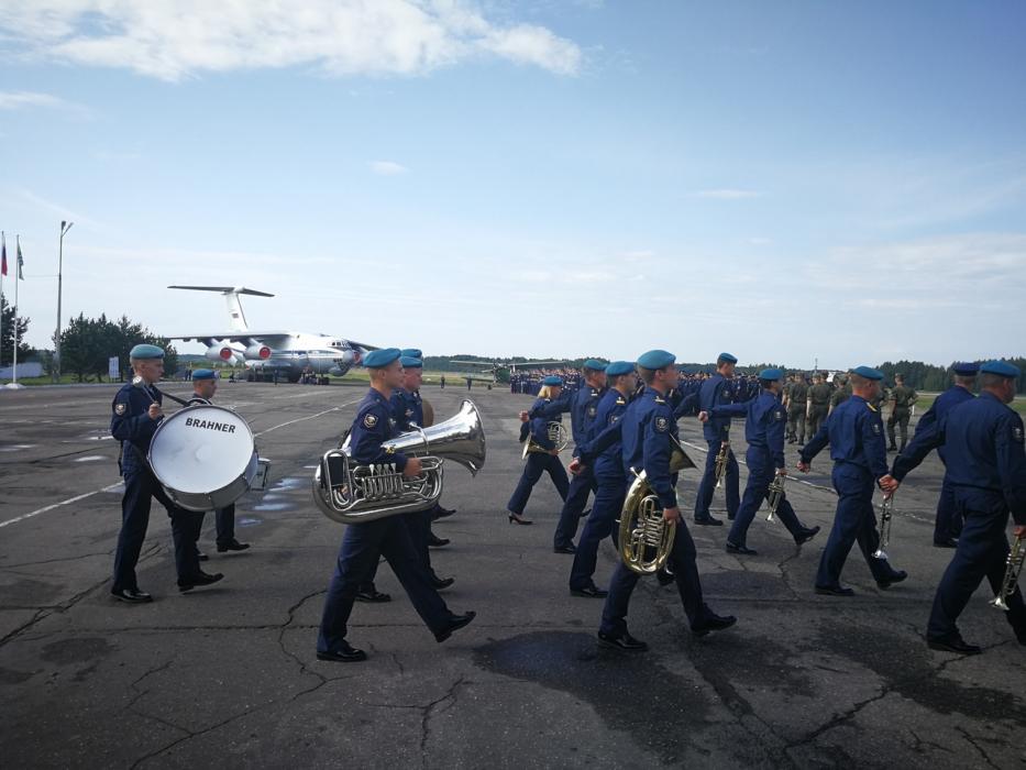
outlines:
[[118, 535], [118, 551], [114, 554], [114, 582], [112, 591], [128, 588], [137, 591], [135, 564], [146, 539], [150, 526], [150, 504], [153, 498], [167, 508], [175, 540], [175, 568], [178, 579], [185, 580], [199, 573], [196, 541], [203, 526], [203, 515], [179, 508], [161, 486], [161, 482], [148, 468], [131, 469], [124, 473], [124, 496], [121, 498], [121, 532]]

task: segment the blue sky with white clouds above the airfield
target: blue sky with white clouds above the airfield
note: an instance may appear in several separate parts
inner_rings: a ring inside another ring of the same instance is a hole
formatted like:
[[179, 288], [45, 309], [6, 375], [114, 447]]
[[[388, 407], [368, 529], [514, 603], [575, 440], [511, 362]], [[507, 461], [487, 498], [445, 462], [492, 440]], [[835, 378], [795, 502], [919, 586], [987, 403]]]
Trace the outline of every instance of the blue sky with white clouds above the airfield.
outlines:
[[65, 316], [168, 336], [225, 323], [165, 286], [224, 284], [429, 354], [1023, 354], [1024, 38], [1011, 0], [0, 0], [0, 227], [36, 345], [69, 219]]

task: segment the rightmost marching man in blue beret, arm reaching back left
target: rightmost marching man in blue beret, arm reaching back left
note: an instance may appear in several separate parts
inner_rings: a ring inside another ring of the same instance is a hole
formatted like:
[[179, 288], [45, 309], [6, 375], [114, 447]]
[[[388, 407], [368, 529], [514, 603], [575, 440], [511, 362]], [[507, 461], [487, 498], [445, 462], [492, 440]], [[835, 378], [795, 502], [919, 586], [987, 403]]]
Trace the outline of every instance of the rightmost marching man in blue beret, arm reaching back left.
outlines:
[[[961, 615], [973, 592], [986, 578], [996, 594], [1008, 559], [1005, 531], [1008, 515], [1016, 537], [1026, 536], [1026, 452], [1023, 418], [1007, 405], [1015, 398], [1017, 366], [989, 361], [980, 366], [980, 396], [950, 409], [915, 439], [894, 461], [893, 480], [905, 475], [939, 447], [945, 449], [946, 480], [955, 492], [955, 506], [963, 525], [955, 557], [945, 570], [929, 624], [931, 649], [963, 654], [981, 651], [962, 639]], [[1021, 645], [1026, 645], [1026, 604], [1016, 586], [1005, 600], [1005, 617]]]

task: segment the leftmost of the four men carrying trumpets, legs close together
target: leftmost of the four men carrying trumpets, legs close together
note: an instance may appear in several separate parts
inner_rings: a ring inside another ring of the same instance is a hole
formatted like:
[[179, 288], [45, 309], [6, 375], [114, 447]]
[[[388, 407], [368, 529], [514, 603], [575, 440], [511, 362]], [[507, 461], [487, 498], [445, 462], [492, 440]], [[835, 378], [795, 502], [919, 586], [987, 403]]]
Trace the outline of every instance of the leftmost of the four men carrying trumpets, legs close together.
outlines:
[[[732, 389], [730, 380], [738, 360], [730, 353], [720, 353], [716, 359], [716, 373], [702, 383], [698, 388], [698, 409], [711, 413], [717, 406], [730, 404]], [[716, 455], [725, 441], [730, 440], [730, 418], [717, 417], [710, 419], [702, 427], [703, 436], [709, 447], [705, 458], [705, 473], [698, 484], [698, 496], [695, 499], [695, 524], [719, 527], [724, 522], [709, 514], [709, 504], [716, 490]], [[727, 452], [727, 471], [724, 475], [724, 486], [727, 493], [727, 517], [733, 519], [741, 504], [738, 475], [738, 460], [733, 450]]]

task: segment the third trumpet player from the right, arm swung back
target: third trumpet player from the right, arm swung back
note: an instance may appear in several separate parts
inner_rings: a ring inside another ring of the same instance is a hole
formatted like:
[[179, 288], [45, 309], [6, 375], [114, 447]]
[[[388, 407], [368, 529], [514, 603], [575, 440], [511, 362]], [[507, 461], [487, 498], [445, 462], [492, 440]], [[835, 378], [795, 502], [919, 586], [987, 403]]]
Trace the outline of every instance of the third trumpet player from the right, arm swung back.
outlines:
[[[784, 373], [779, 369], [764, 369], [759, 375], [762, 393], [744, 404], [729, 404], [714, 407], [711, 413], [702, 413], [698, 419], [717, 417], [744, 417], [744, 440], [748, 442], [746, 461], [748, 463], [748, 485], [744, 497], [738, 508], [737, 518], [727, 536], [727, 552], [755, 556], [755, 550], [747, 544], [748, 528], [759, 506], [770, 494], [770, 484], [775, 476], [786, 476], [784, 465], [784, 433], [787, 417], [780, 400]], [[819, 527], [806, 527], [798, 521], [794, 508], [786, 495], [781, 499], [776, 515], [783, 521], [794, 541], [801, 546], [812, 539]]]

